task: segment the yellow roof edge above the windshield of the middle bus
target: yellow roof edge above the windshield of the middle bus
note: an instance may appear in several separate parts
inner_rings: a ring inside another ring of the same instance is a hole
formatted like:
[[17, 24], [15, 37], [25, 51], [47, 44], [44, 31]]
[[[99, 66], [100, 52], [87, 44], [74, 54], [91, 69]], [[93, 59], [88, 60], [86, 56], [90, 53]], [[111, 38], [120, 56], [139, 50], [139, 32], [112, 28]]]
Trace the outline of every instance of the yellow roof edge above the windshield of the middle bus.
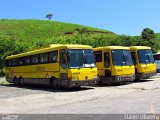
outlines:
[[97, 47], [97, 48], [93, 48], [94, 51], [98, 51], [98, 50], [106, 50], [106, 49], [121, 49], [121, 50], [129, 50], [129, 47], [124, 47], [124, 46], [104, 46], [104, 47]]

